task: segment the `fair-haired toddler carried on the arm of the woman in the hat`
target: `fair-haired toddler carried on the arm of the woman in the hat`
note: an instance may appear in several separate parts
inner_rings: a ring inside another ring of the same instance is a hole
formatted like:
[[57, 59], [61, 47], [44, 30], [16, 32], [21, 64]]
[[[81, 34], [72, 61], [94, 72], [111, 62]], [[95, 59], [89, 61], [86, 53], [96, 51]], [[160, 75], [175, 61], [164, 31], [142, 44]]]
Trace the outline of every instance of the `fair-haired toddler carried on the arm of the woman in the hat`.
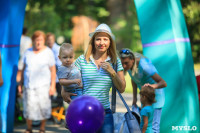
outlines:
[[[61, 66], [58, 66], [57, 76], [59, 83], [63, 86], [65, 92], [71, 92], [77, 94], [77, 96], [71, 96], [71, 99], [82, 95], [82, 81], [81, 73], [74, 65], [74, 50], [71, 44], [63, 43], [59, 51], [59, 59], [62, 62]], [[62, 93], [62, 97], [65, 100], [65, 93]], [[66, 100], [65, 100], [66, 101]]]

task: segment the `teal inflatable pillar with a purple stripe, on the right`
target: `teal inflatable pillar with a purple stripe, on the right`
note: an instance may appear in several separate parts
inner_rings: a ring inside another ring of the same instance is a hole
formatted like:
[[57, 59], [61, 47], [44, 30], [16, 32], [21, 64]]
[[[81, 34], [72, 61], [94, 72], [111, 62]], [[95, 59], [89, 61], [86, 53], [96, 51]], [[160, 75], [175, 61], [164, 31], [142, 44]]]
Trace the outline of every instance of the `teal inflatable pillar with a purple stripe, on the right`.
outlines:
[[180, 0], [134, 0], [143, 53], [167, 82], [161, 133], [200, 131], [190, 39]]

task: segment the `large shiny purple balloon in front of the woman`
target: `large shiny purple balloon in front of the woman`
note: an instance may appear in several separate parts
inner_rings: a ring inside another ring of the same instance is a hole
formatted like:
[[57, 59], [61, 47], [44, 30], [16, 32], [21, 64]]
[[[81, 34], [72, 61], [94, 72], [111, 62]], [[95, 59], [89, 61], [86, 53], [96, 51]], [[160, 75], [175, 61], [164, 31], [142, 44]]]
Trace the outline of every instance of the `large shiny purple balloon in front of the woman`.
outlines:
[[72, 133], [95, 133], [104, 121], [104, 108], [92, 96], [80, 96], [67, 110], [66, 123]]

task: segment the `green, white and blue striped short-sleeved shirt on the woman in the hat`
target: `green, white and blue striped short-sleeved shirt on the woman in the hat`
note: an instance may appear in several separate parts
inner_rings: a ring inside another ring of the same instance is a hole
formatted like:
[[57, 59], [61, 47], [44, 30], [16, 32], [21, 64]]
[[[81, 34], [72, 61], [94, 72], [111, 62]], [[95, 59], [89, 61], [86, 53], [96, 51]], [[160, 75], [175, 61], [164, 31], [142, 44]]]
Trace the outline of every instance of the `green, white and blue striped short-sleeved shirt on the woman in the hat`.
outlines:
[[[106, 62], [111, 62], [108, 57]], [[110, 63], [112, 66], [112, 63]], [[75, 65], [80, 69], [83, 81], [83, 94], [97, 98], [104, 109], [110, 108], [109, 91], [112, 86], [110, 74], [103, 68], [97, 68], [94, 59], [91, 56], [87, 63], [84, 55], [77, 58]], [[117, 58], [117, 71], [122, 71], [123, 67], [119, 58]]]

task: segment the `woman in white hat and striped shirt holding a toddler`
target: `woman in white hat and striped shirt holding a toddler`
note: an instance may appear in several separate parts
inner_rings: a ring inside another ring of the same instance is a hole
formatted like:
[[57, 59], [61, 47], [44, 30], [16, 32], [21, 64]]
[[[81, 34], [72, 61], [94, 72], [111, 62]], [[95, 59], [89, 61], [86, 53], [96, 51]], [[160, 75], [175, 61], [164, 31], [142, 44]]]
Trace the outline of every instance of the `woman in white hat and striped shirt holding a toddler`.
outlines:
[[[91, 40], [88, 49], [85, 55], [78, 57], [75, 65], [81, 70], [83, 94], [97, 98], [105, 109], [104, 124], [98, 132], [113, 133], [109, 91], [113, 82], [119, 92], [124, 92], [126, 83], [123, 67], [117, 57], [115, 38], [108, 25], [100, 24], [89, 36]], [[113, 69], [113, 64], [117, 65], [117, 72]], [[64, 100], [70, 102], [69, 97]]]

